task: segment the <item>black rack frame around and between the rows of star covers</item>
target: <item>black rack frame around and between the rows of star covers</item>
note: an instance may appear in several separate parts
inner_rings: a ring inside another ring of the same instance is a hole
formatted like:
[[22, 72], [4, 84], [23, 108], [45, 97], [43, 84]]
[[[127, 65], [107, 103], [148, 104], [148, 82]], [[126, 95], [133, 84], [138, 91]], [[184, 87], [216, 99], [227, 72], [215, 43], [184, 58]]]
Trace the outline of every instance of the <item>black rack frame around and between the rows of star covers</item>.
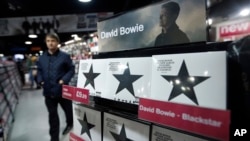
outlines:
[[[148, 57], [160, 54], [185, 54], [195, 52], [213, 52], [213, 51], [226, 51], [227, 52], [227, 110], [230, 110], [230, 141], [235, 140], [234, 132], [236, 129], [249, 129], [249, 121], [247, 116], [247, 107], [244, 104], [244, 94], [241, 83], [241, 70], [240, 64], [235, 62], [230, 57], [230, 49], [232, 42], [221, 43], [193, 43], [163, 47], [153, 47], [144, 49], [124, 50], [115, 52], [104, 52], [93, 56], [93, 59], [106, 59], [106, 58], [129, 58], [129, 57]], [[93, 100], [94, 108], [102, 109], [108, 113], [117, 114], [121, 117], [128, 117], [134, 120], [138, 119], [138, 105], [123, 103], [113, 100], [104, 99], [101, 97], [90, 96]], [[86, 105], [82, 105], [86, 107]], [[88, 107], [88, 106], [87, 106]], [[142, 120], [143, 121], [143, 120]], [[152, 123], [152, 125], [157, 125]], [[164, 127], [164, 126], [163, 126]], [[178, 130], [172, 127], [165, 128], [176, 130], [181, 133], [203, 137], [209, 140], [217, 140], [205, 137], [199, 134], [188, 133], [187, 131]]]

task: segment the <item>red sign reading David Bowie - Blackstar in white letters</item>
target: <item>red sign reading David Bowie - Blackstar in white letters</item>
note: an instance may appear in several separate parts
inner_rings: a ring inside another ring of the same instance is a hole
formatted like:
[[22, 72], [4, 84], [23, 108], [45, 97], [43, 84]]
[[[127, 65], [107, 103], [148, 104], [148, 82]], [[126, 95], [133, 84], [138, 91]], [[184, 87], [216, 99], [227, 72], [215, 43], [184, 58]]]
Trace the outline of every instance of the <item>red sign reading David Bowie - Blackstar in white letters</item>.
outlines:
[[215, 139], [229, 140], [230, 112], [227, 110], [140, 98], [138, 118]]

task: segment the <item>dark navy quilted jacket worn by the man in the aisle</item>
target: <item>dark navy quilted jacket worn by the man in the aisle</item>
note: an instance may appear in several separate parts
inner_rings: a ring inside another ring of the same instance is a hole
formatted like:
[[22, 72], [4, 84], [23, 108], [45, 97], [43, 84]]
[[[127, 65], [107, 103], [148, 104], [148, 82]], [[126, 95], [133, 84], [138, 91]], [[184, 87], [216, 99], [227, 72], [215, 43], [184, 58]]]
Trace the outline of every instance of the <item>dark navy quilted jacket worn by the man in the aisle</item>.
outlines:
[[75, 66], [70, 55], [59, 49], [53, 54], [46, 51], [39, 57], [37, 80], [43, 84], [43, 95], [60, 97], [62, 96], [62, 85], [59, 80], [63, 80], [67, 85], [75, 73]]

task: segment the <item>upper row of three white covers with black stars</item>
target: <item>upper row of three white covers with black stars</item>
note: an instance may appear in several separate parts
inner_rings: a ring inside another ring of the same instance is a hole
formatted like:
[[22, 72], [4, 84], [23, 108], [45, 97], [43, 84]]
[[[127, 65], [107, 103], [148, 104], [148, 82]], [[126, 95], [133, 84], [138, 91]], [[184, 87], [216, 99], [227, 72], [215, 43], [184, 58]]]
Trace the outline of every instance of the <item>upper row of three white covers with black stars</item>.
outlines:
[[226, 52], [81, 60], [77, 87], [138, 104], [139, 98], [226, 109]]

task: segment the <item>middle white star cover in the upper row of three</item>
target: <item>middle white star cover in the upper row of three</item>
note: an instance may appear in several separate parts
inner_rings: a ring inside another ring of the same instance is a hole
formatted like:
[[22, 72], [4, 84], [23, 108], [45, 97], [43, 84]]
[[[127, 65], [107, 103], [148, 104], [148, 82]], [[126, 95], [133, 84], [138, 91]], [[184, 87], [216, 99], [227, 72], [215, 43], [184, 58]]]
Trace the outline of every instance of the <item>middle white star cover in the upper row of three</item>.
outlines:
[[102, 98], [137, 104], [150, 92], [151, 57], [108, 59]]

